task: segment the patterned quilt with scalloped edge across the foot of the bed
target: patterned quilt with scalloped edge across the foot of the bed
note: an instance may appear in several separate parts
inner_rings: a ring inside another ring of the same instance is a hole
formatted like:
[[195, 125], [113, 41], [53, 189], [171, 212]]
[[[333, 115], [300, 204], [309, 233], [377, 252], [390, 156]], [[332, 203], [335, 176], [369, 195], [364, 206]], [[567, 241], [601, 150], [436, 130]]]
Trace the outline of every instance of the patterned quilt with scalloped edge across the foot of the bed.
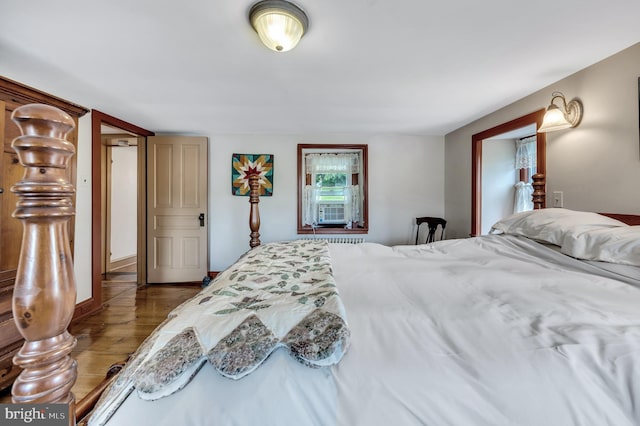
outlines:
[[134, 389], [147, 400], [182, 389], [207, 361], [240, 379], [279, 347], [322, 367], [338, 363], [348, 346], [327, 244], [262, 245], [169, 314], [105, 391], [90, 425], [104, 424]]

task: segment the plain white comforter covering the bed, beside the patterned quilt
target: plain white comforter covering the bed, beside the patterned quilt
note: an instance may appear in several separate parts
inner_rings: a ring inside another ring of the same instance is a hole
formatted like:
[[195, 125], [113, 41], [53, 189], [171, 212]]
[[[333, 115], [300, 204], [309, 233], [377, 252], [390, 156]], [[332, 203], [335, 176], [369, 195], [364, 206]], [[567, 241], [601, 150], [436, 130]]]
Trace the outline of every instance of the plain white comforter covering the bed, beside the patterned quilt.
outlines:
[[340, 364], [274, 352], [238, 381], [207, 364], [109, 425], [640, 424], [640, 283], [509, 236], [330, 250]]

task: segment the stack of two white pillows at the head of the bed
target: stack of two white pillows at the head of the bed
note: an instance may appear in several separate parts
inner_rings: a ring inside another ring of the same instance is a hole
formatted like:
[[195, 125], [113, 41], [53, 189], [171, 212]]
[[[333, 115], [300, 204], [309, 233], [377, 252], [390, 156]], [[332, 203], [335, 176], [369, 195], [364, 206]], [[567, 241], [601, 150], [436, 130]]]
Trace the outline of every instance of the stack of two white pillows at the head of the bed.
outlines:
[[521, 212], [496, 222], [491, 233], [554, 244], [578, 259], [640, 266], [640, 226], [597, 213], [561, 208]]

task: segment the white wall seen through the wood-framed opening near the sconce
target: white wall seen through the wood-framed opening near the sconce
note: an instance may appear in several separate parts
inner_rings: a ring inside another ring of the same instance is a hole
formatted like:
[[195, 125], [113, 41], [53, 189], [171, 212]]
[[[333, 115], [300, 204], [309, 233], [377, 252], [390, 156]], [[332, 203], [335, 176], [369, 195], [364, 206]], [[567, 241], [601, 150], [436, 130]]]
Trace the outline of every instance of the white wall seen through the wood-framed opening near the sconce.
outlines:
[[513, 214], [516, 142], [490, 139], [482, 143], [482, 234], [503, 217]]

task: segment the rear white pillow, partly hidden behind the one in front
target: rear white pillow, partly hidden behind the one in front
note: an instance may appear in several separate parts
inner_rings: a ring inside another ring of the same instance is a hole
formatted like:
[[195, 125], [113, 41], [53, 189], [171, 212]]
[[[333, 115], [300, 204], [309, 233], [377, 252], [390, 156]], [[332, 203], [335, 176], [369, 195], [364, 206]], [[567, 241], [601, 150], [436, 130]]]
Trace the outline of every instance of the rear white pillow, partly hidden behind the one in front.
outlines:
[[491, 233], [521, 235], [560, 246], [565, 234], [575, 229], [585, 231], [627, 226], [597, 213], [549, 208], [516, 213], [501, 219], [493, 225]]

